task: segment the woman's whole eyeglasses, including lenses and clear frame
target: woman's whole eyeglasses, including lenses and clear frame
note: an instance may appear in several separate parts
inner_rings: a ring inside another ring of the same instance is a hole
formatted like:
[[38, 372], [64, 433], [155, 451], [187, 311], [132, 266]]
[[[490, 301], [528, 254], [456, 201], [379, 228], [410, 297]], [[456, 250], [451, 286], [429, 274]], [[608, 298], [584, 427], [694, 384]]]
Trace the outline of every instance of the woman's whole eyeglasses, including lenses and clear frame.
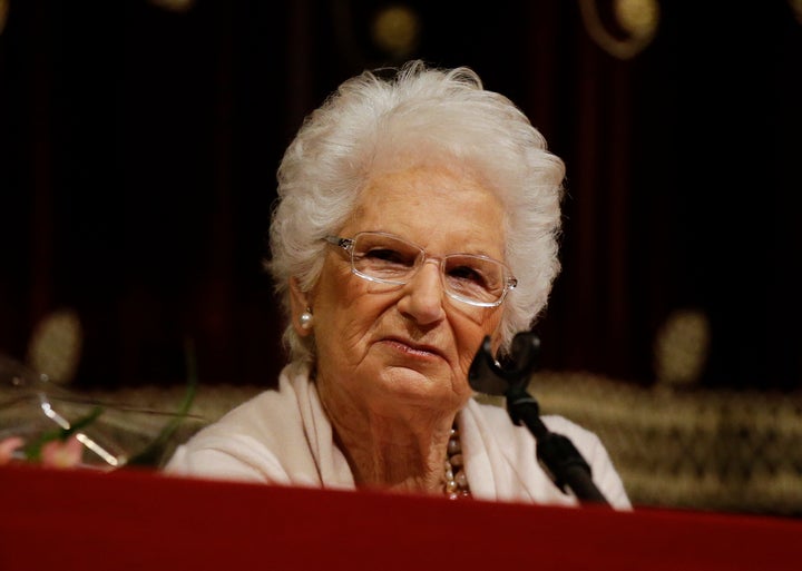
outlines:
[[[383, 232], [361, 232], [353, 238], [326, 236], [351, 257], [351, 272], [369, 282], [401, 286], [409, 283], [428, 258], [420, 246]], [[479, 307], [497, 307], [518, 285], [501, 262], [472, 254], [449, 254], [440, 262], [443, 289], [453, 299]]]

